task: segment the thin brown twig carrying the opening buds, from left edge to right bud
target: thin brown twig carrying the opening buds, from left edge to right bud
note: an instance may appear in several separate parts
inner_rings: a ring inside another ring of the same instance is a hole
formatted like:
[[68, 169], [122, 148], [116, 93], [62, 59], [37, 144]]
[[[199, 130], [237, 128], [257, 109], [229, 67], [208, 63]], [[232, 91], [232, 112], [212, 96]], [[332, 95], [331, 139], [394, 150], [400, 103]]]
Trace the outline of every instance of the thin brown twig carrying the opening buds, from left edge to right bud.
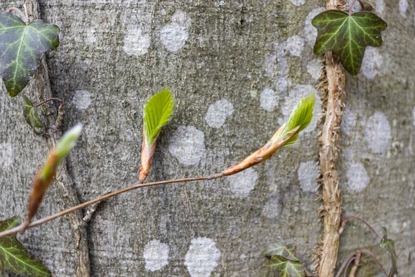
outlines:
[[[101, 197], [92, 199], [88, 202], [84, 202], [82, 204], [79, 204], [77, 206], [73, 206], [72, 208], [68, 208], [64, 211], [61, 211], [59, 213], [55, 213], [55, 215], [50, 215], [48, 217], [44, 217], [41, 220], [36, 220], [35, 222], [32, 222], [30, 224], [28, 224], [28, 226], [26, 227], [26, 229], [30, 229], [33, 228], [35, 226], [39, 226], [41, 224], [44, 224], [46, 222], [50, 222], [51, 220], [55, 220], [58, 217], [62, 217], [64, 215], [67, 215], [68, 213], [72, 213], [73, 211], [77, 211], [80, 210], [81, 208], [85, 208], [86, 206], [101, 202], [105, 199], [109, 199], [111, 197], [114, 197], [116, 195], [120, 195], [122, 193], [127, 193], [130, 190], [136, 190], [137, 188], [145, 188], [145, 187], [149, 187], [149, 186], [159, 186], [159, 185], [165, 185], [165, 184], [173, 184], [173, 183], [183, 183], [183, 182], [187, 182], [187, 181], [203, 181], [203, 180], [212, 180], [212, 179], [218, 179], [223, 177], [222, 173], [219, 174], [215, 174], [215, 175], [210, 175], [210, 176], [206, 176], [206, 177], [193, 177], [193, 178], [184, 178], [184, 179], [173, 179], [173, 180], [165, 180], [165, 181], [156, 181], [156, 182], [152, 182], [152, 183], [147, 183], [147, 184], [140, 184], [140, 182], [136, 182], [134, 183], [132, 186], [129, 186], [128, 188], [123, 188], [122, 190], [118, 190], [116, 192], [113, 193], [109, 193], [107, 195], [103, 195]], [[15, 235], [17, 233], [22, 233], [23, 231], [25, 231], [26, 229], [23, 228], [23, 225], [17, 226], [13, 229], [10, 229], [8, 231], [4, 231], [0, 233], [0, 238], [6, 237], [8, 235]]]

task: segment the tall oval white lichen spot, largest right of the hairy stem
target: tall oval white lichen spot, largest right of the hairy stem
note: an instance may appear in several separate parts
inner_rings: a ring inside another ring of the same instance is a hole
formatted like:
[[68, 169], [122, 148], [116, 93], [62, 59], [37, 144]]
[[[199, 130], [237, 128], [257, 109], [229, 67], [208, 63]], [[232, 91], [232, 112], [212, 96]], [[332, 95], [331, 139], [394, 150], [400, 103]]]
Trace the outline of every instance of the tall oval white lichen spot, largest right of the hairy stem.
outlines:
[[365, 127], [365, 139], [368, 147], [375, 153], [387, 150], [391, 140], [391, 126], [385, 114], [376, 111], [367, 120]]

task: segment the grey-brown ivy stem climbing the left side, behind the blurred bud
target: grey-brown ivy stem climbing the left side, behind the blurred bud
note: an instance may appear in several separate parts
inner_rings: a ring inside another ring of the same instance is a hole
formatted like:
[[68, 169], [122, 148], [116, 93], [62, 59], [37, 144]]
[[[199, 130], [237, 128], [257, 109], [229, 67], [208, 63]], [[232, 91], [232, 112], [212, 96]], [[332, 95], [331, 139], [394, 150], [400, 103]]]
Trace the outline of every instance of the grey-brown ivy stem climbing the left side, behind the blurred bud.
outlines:
[[[40, 18], [39, 3], [37, 0], [25, 0], [24, 7], [28, 21]], [[48, 65], [46, 64], [45, 57], [42, 57], [39, 69], [35, 72], [35, 76], [28, 85], [28, 89], [37, 93], [40, 102], [53, 98], [48, 76]], [[50, 105], [50, 102], [42, 105], [42, 111], [46, 117], [48, 123], [47, 126], [49, 126], [46, 128], [44, 137], [50, 151], [55, 148], [57, 141], [59, 141], [62, 136], [60, 125], [63, 119], [63, 107], [63, 105], [60, 105], [57, 112], [55, 106]], [[59, 195], [62, 197], [64, 208], [80, 204], [72, 178], [68, 174], [66, 162], [63, 162], [61, 166], [57, 168], [55, 184], [57, 185]], [[84, 226], [84, 221], [82, 220], [83, 217], [84, 215], [81, 210], [75, 211], [74, 213], [68, 215], [68, 223], [72, 231], [72, 242], [75, 256], [75, 277], [90, 276], [88, 237], [86, 233], [86, 226]]]

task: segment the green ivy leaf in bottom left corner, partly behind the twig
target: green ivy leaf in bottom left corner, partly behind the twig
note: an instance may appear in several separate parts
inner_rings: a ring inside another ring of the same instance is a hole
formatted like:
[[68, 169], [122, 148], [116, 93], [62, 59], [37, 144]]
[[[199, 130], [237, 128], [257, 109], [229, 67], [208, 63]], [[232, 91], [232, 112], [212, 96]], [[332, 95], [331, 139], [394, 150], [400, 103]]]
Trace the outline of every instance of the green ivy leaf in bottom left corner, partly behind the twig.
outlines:
[[[20, 217], [11, 217], [0, 222], [0, 232], [20, 224]], [[30, 255], [15, 235], [0, 238], [0, 265], [4, 270], [24, 276], [50, 276], [50, 271], [40, 260]]]

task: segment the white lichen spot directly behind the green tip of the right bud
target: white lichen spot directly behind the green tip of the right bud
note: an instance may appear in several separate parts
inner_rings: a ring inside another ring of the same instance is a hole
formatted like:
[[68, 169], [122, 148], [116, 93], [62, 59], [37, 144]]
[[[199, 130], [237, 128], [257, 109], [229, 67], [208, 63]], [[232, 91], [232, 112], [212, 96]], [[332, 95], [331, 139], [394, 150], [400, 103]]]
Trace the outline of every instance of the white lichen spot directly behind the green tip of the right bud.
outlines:
[[[314, 111], [313, 111], [313, 118], [311, 119], [310, 125], [304, 129], [303, 132], [312, 132], [313, 129], [317, 126], [318, 116], [321, 113], [321, 100], [320, 96], [316, 93], [316, 90], [311, 85], [304, 85], [299, 84], [295, 86], [286, 97], [286, 100], [284, 102], [284, 105], [282, 106], [282, 118], [279, 118], [278, 122], [279, 124], [283, 125], [286, 123], [288, 118], [291, 115], [291, 112], [297, 107], [297, 104], [299, 103], [302, 98], [305, 98], [309, 96], [311, 93], [315, 94], [315, 105], [314, 105]], [[300, 133], [301, 136], [302, 133]]]

